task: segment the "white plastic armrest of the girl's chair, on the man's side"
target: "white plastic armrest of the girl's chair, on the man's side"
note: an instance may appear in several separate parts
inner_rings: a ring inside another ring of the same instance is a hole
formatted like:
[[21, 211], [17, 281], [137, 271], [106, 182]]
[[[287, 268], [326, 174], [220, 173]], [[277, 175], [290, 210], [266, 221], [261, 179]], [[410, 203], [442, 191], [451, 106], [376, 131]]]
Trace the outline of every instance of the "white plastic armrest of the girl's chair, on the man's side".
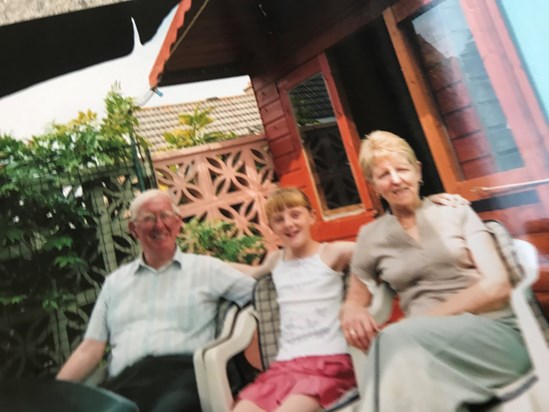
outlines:
[[227, 362], [250, 345], [256, 329], [255, 311], [248, 306], [237, 315], [230, 337], [204, 351], [211, 412], [231, 409], [234, 399], [227, 377]]

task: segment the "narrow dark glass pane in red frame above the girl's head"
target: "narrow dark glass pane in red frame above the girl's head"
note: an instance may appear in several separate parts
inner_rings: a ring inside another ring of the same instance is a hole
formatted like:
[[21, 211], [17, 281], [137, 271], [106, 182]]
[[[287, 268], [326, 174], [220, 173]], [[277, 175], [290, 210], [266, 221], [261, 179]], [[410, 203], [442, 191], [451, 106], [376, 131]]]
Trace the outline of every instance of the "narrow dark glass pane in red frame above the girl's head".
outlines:
[[294, 118], [324, 210], [360, 203], [322, 75], [290, 91]]

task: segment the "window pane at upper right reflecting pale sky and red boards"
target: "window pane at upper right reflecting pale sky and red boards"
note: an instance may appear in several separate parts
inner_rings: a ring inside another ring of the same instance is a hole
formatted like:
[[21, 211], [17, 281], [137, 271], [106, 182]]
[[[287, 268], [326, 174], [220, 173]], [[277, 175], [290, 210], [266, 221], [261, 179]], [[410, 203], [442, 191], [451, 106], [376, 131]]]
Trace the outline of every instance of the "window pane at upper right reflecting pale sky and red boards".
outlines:
[[439, 3], [413, 19], [411, 26], [463, 177], [522, 167], [459, 2]]

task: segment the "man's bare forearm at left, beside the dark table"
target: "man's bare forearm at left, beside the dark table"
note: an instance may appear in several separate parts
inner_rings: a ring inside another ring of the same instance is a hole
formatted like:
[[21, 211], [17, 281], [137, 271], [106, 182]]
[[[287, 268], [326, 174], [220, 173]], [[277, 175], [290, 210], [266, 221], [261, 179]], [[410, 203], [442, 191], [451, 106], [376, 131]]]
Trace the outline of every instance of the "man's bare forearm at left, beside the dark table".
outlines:
[[106, 343], [84, 339], [61, 367], [56, 379], [80, 382], [95, 369], [103, 358]]

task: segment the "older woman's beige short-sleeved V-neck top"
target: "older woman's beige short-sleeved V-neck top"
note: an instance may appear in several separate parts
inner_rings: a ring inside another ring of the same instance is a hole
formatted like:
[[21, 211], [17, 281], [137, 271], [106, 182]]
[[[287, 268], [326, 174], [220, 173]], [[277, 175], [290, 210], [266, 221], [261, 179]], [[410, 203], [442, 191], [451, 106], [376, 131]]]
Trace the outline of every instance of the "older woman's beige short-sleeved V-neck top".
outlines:
[[480, 279], [467, 239], [487, 231], [469, 206], [429, 199], [416, 211], [416, 222], [419, 242], [390, 213], [363, 226], [351, 262], [351, 272], [362, 280], [389, 283], [406, 316], [422, 314]]

